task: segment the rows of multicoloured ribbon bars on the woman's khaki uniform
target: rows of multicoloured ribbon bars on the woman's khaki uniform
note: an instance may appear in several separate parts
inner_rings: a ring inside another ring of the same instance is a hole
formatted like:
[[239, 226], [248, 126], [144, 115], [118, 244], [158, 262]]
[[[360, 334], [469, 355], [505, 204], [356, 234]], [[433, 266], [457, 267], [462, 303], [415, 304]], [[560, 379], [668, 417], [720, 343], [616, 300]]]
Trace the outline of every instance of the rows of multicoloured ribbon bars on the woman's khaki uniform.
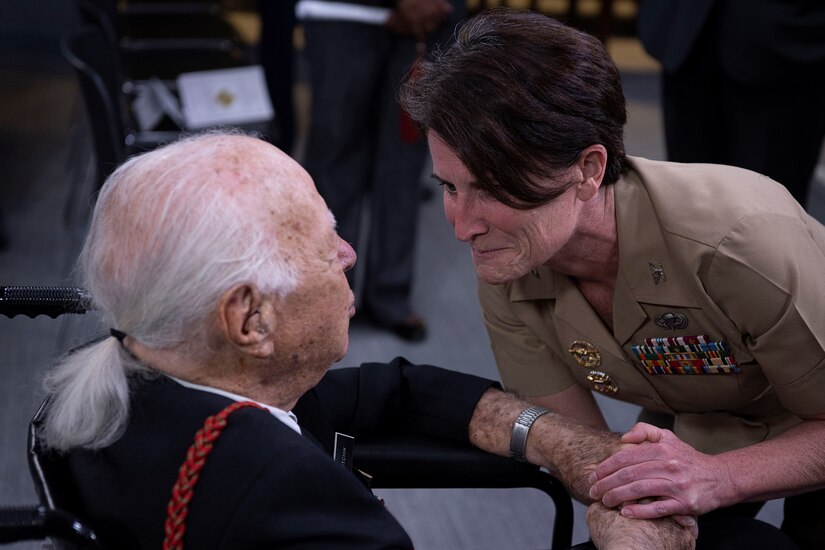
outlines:
[[646, 338], [631, 351], [648, 374], [738, 374], [739, 367], [724, 340], [708, 336]]

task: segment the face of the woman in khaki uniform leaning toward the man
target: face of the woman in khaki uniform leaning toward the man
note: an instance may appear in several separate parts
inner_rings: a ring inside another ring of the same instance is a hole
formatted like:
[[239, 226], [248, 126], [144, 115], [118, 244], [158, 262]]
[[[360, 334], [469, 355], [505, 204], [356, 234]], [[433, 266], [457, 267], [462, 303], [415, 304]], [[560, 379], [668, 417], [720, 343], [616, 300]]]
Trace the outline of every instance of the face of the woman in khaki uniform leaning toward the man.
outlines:
[[476, 273], [485, 282], [517, 279], [550, 262], [576, 229], [576, 186], [548, 204], [519, 210], [475, 185], [458, 156], [430, 131], [433, 177], [444, 193], [444, 213], [457, 239], [470, 245]]

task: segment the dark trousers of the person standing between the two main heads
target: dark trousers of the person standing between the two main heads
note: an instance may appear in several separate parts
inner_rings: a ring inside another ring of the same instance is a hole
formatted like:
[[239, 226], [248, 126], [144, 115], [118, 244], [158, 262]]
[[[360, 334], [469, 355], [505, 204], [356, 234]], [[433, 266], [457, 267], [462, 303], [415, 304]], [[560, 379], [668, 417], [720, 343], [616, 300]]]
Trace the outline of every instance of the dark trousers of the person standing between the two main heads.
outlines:
[[401, 321], [410, 313], [427, 155], [423, 139], [403, 139], [396, 100], [415, 41], [360, 23], [307, 21], [304, 29], [312, 88], [305, 167], [359, 255], [350, 282], [363, 277], [361, 306]]

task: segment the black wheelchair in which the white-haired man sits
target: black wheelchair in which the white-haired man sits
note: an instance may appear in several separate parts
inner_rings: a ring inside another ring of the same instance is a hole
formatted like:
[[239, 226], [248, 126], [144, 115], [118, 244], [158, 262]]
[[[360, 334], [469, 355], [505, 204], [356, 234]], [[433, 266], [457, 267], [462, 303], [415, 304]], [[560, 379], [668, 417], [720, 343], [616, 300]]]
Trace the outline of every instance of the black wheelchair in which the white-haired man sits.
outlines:
[[[80, 288], [0, 286], [0, 315], [7, 317], [47, 315], [56, 318], [65, 314], [83, 314], [90, 308], [91, 300]], [[48, 398], [35, 413], [28, 437], [29, 471], [40, 506], [21, 509], [21, 514], [34, 518], [43, 516], [42, 523], [59, 530], [59, 533], [34, 530], [32, 533], [71, 535], [73, 540], [94, 547], [97, 543], [94, 532], [81, 519], [70, 515], [78, 507], [65, 462], [40, 445], [39, 430], [47, 413]], [[359, 441], [354, 465], [372, 476], [374, 488], [538, 489], [553, 502], [553, 508], [548, 508], [548, 519], [554, 518], [551, 548], [570, 547], [573, 533], [571, 497], [560, 481], [536, 466], [489, 454], [469, 444], [402, 434]], [[5, 520], [3, 512], [0, 510], [0, 542], [7, 542], [3, 534], [13, 533], [14, 526], [20, 521], [18, 516], [12, 518], [11, 515]], [[67, 532], [66, 525], [76, 525], [76, 534]]]

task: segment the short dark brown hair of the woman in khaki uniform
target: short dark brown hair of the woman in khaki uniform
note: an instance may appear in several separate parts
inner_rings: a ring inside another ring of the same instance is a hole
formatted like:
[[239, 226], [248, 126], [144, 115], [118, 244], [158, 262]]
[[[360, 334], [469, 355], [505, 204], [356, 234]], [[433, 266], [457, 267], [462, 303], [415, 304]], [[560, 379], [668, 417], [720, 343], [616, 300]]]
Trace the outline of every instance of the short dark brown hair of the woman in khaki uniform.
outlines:
[[596, 38], [529, 11], [494, 9], [409, 76], [401, 104], [434, 130], [480, 188], [515, 208], [545, 204], [548, 187], [590, 145], [607, 149], [604, 182], [625, 169], [621, 78]]

